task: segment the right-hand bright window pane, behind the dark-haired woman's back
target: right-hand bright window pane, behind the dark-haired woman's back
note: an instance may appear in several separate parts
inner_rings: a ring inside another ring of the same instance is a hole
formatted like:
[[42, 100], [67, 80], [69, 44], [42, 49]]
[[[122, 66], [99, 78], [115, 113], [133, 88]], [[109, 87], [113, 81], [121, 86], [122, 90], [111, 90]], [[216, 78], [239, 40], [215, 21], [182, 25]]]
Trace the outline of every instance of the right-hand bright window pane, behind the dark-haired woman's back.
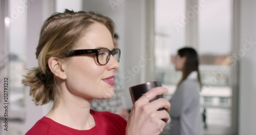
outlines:
[[206, 2], [205, 7], [200, 8], [198, 14], [198, 52], [204, 85], [202, 96], [205, 103], [209, 97], [214, 98], [212, 98], [212, 106], [206, 103], [204, 107], [207, 109], [209, 126], [229, 127], [231, 104], [227, 103], [227, 99], [232, 97], [230, 84], [232, 3], [231, 0]]

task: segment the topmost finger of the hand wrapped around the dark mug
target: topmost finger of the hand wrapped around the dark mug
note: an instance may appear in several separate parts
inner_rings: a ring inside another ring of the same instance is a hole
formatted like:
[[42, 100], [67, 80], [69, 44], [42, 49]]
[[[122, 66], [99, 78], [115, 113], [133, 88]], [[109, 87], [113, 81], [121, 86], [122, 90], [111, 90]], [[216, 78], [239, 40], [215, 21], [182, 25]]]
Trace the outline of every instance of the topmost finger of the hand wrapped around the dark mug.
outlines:
[[152, 111], [158, 110], [159, 108], [165, 108], [165, 110], [169, 111], [170, 102], [163, 98], [159, 98], [145, 105], [145, 107], [146, 109], [152, 110]]

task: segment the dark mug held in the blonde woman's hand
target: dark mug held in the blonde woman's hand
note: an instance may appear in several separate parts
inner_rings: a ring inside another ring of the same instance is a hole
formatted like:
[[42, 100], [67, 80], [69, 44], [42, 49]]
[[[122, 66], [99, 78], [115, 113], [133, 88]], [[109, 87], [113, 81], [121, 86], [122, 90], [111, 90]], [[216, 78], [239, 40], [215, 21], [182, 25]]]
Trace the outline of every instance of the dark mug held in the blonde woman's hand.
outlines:
[[[129, 87], [129, 92], [131, 94], [133, 104], [142, 96], [142, 94], [145, 94], [146, 92], [150, 91], [151, 88], [161, 87], [161, 86], [162, 86], [161, 81], [153, 81], [153, 82], [146, 82], [146, 83]], [[155, 98], [150, 100], [150, 102], [159, 98], [163, 98], [163, 94], [156, 96]], [[158, 110], [163, 110], [163, 108], [160, 108]]]

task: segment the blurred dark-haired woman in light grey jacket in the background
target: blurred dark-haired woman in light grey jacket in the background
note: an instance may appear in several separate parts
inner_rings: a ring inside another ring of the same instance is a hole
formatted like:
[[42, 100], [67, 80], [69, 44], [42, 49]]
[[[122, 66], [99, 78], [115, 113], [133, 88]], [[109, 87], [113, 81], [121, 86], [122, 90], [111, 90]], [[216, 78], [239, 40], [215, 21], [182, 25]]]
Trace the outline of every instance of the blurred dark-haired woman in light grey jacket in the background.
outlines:
[[193, 48], [178, 50], [175, 59], [176, 71], [182, 72], [182, 78], [170, 100], [170, 134], [201, 135], [203, 134], [200, 114], [199, 59]]

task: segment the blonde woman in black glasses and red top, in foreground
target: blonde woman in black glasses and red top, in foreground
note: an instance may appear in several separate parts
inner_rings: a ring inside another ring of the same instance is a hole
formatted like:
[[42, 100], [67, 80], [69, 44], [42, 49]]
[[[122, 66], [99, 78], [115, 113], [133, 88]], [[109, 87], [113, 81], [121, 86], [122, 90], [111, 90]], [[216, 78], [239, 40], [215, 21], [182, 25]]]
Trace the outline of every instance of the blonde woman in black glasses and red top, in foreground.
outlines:
[[[114, 96], [120, 50], [112, 41], [114, 22], [93, 12], [65, 10], [50, 16], [41, 28], [36, 49], [38, 67], [23, 83], [36, 105], [53, 101], [49, 113], [26, 134], [159, 134], [168, 121], [168, 101], [149, 100], [167, 93], [151, 89], [137, 100], [129, 120], [90, 109], [93, 99]], [[166, 110], [157, 111], [164, 107]]]

